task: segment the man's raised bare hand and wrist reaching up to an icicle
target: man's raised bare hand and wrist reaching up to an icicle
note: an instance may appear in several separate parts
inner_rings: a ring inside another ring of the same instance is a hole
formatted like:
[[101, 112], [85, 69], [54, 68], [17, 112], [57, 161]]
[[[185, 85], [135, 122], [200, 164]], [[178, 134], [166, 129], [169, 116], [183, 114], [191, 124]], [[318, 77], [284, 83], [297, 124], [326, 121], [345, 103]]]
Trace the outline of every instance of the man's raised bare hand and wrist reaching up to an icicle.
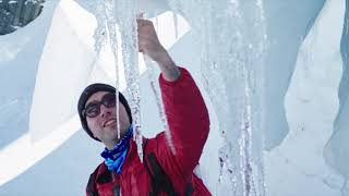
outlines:
[[180, 71], [160, 44], [153, 23], [137, 19], [137, 26], [140, 52], [151, 57], [158, 63], [166, 81], [176, 81], [180, 76]]

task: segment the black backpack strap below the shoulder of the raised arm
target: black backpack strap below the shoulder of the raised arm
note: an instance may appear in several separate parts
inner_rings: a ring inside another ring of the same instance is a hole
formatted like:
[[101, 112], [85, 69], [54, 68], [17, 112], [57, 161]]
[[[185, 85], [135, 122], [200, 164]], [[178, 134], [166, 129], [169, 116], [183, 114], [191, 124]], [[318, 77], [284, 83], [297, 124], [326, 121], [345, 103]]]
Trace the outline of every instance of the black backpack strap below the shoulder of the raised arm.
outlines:
[[[147, 144], [147, 139], [145, 140], [144, 144], [144, 152], [146, 151], [145, 147]], [[178, 196], [178, 194], [174, 189], [174, 186], [170, 180], [170, 177], [165, 173], [163, 167], [158, 162], [158, 160], [155, 157], [154, 152], [146, 154], [145, 152], [145, 160], [144, 160], [145, 168], [147, 172], [151, 174], [152, 177], [152, 187], [153, 191], [149, 193], [151, 196], [157, 196], [160, 191], [166, 192], [170, 196]], [[151, 170], [152, 168], [152, 170]], [[189, 183], [188, 186], [185, 187], [184, 195], [185, 196], [191, 196], [192, 193], [194, 192], [194, 188], [192, 186], [192, 183]]]

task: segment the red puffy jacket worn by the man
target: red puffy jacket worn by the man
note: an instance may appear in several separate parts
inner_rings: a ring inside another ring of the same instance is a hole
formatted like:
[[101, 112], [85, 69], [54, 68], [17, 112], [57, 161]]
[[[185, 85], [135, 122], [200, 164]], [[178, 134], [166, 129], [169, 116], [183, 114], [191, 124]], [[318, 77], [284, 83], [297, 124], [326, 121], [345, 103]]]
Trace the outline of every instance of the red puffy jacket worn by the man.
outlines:
[[[149, 151], [155, 154], [180, 195], [184, 195], [189, 182], [194, 188], [192, 195], [210, 195], [202, 180], [193, 173], [208, 136], [208, 112], [190, 73], [182, 68], [180, 71], [181, 76], [174, 82], [165, 81], [161, 75], [159, 77], [176, 155], [172, 155], [167, 145], [164, 132], [147, 140], [145, 155]], [[130, 140], [122, 174], [109, 172], [103, 162], [96, 169], [95, 181], [89, 183], [95, 183], [99, 196], [119, 195], [119, 189], [122, 196], [146, 196], [152, 189], [151, 175], [140, 161], [133, 139]]]

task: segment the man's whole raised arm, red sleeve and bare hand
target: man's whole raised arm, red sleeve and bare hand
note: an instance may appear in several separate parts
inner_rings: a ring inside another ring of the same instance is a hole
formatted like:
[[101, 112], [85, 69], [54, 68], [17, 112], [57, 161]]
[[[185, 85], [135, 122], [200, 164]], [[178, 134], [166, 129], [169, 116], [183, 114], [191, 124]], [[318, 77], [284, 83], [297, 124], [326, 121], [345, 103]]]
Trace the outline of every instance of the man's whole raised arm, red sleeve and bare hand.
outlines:
[[140, 51], [156, 61], [161, 70], [159, 83], [176, 149], [174, 159], [182, 174], [190, 175], [198, 163], [209, 131], [205, 102], [190, 73], [177, 66], [159, 42], [153, 23], [137, 20], [137, 24]]

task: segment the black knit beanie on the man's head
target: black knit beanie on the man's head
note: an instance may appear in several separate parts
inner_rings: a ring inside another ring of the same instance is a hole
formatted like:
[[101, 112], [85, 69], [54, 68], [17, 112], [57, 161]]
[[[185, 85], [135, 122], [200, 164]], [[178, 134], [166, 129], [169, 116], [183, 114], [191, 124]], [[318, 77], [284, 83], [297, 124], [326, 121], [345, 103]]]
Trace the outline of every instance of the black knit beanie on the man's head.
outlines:
[[[81, 121], [81, 125], [83, 126], [83, 128], [85, 130], [85, 132], [94, 139], [99, 140], [98, 138], [94, 137], [93, 133], [91, 132], [91, 130], [87, 126], [87, 121], [86, 118], [83, 115], [83, 110], [85, 108], [86, 101], [87, 99], [95, 93], [97, 91], [109, 91], [112, 94], [116, 94], [116, 88], [113, 86], [107, 85], [107, 84], [101, 84], [101, 83], [95, 83], [95, 84], [91, 84], [88, 85], [84, 91], [81, 94], [80, 98], [79, 98], [79, 102], [77, 102], [77, 112], [79, 112], [79, 117], [80, 117], [80, 121]], [[127, 99], [123, 97], [123, 95], [119, 91], [119, 101], [124, 106], [124, 108], [127, 109], [129, 119], [130, 119], [130, 123], [132, 124], [132, 115], [131, 115], [131, 109], [130, 106], [127, 101]], [[99, 140], [100, 142], [100, 140]]]

